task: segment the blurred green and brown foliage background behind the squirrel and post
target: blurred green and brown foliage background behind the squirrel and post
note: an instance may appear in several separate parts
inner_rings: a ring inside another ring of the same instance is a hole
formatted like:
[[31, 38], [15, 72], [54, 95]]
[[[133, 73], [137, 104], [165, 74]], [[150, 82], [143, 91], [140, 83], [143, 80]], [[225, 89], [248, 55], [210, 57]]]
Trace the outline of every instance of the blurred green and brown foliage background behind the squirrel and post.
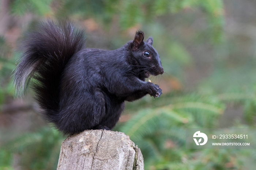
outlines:
[[114, 131], [130, 136], [149, 170], [255, 169], [256, 150], [186, 149], [186, 128], [255, 128], [255, 0], [1, 0], [0, 170], [56, 169], [66, 138], [45, 123], [33, 94], [14, 97], [22, 34], [40, 20], [70, 19], [87, 47], [116, 49], [137, 30], [153, 36], [163, 89], [126, 104]]

